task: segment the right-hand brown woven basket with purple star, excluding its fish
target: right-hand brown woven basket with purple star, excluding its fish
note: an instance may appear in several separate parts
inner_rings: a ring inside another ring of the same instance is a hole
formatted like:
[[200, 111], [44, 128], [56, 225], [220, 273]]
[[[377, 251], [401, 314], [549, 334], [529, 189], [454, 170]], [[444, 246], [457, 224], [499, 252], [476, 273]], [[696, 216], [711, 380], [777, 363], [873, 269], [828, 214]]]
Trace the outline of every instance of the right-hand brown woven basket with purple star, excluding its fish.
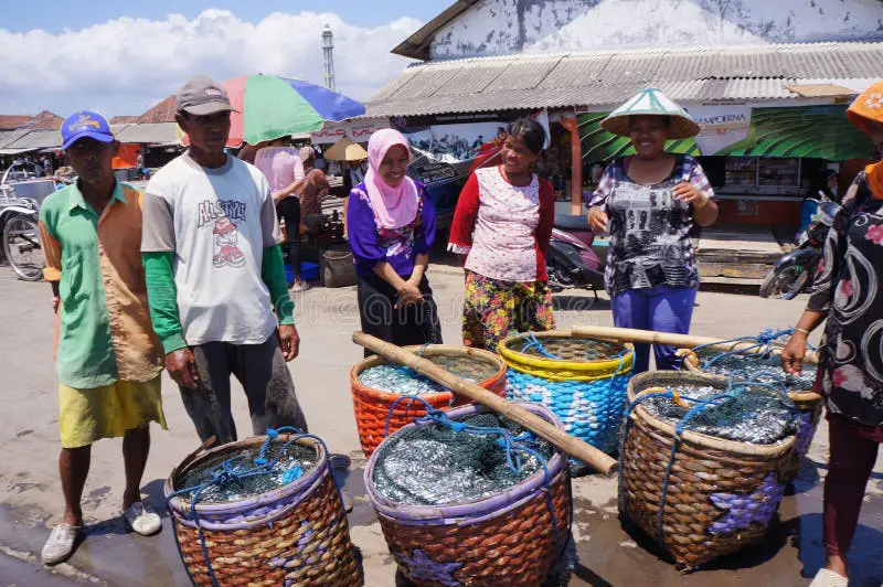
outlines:
[[[642, 373], [629, 383], [628, 398], [634, 402], [653, 387], [677, 389], [679, 384], [726, 389], [720, 377]], [[631, 410], [620, 455], [623, 516], [687, 570], [760, 541], [785, 493], [794, 437], [765, 446], [687, 430], [667, 474], [673, 442], [674, 426], [640, 405]]]

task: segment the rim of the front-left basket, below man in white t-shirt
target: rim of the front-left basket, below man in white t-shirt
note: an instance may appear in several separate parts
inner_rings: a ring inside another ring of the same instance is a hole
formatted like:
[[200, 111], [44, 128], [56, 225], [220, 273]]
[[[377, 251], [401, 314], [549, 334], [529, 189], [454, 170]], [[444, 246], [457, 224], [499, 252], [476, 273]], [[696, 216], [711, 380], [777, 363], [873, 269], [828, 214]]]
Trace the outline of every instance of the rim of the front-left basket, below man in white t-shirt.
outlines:
[[[279, 442], [286, 442], [289, 438], [291, 438], [291, 434], [280, 434], [278, 436]], [[193, 466], [199, 463], [202, 460], [208, 458], [214, 457], [220, 452], [230, 452], [231, 450], [235, 450], [237, 448], [253, 448], [256, 446], [260, 446], [266, 440], [266, 436], [251, 436], [248, 438], [244, 438], [242, 440], [236, 440], [235, 442], [228, 442], [226, 445], [220, 445], [213, 447], [205, 451], [198, 451], [195, 458], [190, 462], [187, 462], [184, 467], [179, 465], [169, 477], [166, 479], [166, 484], [163, 487], [164, 497], [168, 500], [169, 509], [173, 510], [175, 513], [183, 515], [185, 519], [190, 515], [190, 500], [183, 498], [181, 495], [175, 495], [171, 500], [169, 500], [169, 495], [171, 495], [174, 491], [174, 480], [178, 479], [181, 474], [185, 471], [190, 470]], [[312, 485], [315, 485], [321, 478], [326, 474], [326, 469], [328, 469], [328, 455], [326, 453], [325, 447], [321, 442], [319, 442], [315, 438], [300, 438], [297, 440], [298, 445], [301, 446], [309, 446], [313, 450], [316, 450], [317, 460], [316, 467], [312, 467], [308, 470], [304, 476], [300, 478], [291, 481], [290, 483], [283, 485], [280, 488], [276, 488], [272, 491], [267, 491], [265, 493], [260, 493], [259, 495], [255, 495], [253, 498], [248, 498], [246, 500], [240, 501], [220, 501], [220, 502], [208, 502], [208, 503], [198, 503], [196, 504], [196, 512], [200, 515], [219, 515], [219, 514], [227, 514], [233, 515], [244, 511], [252, 510], [254, 508], [259, 508], [262, 505], [267, 505], [270, 503], [275, 503], [279, 500], [288, 498], [296, 493], [302, 493], [306, 490], [309, 490]], [[185, 459], [187, 460], [187, 459]], [[183, 465], [183, 461], [182, 461]], [[189, 519], [188, 519], [189, 520]], [[192, 522], [192, 521], [191, 521]], [[204, 525], [205, 523], [201, 521]], [[258, 523], [266, 524], [266, 520], [262, 520]], [[194, 526], [195, 527], [195, 526]], [[206, 526], [208, 527], [208, 526]]]

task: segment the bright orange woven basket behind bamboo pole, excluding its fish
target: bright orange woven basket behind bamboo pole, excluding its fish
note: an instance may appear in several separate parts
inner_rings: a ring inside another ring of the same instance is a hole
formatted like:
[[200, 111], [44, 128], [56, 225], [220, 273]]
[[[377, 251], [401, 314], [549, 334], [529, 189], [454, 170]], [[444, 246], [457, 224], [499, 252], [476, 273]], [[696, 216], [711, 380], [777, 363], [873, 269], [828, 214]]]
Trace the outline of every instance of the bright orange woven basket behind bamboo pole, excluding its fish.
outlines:
[[[408, 346], [408, 350], [413, 352], [416, 352], [418, 349], [418, 346]], [[493, 376], [478, 382], [478, 384], [500, 397], [506, 394], [506, 364], [496, 354], [481, 349], [447, 346], [443, 344], [426, 346], [421, 352], [421, 356], [428, 360], [439, 355], [464, 356], [493, 365], [493, 367], [497, 369]], [[377, 445], [383, 440], [386, 431], [386, 419], [390, 417], [390, 408], [396, 399], [402, 397], [398, 394], [368, 387], [362, 385], [359, 381], [359, 375], [361, 375], [363, 371], [381, 365], [385, 361], [380, 356], [372, 356], [355, 365], [350, 372], [350, 387], [352, 389], [355, 426], [359, 429], [359, 439], [362, 442], [362, 451], [365, 453], [365, 457], [371, 457], [371, 453], [374, 452], [374, 449], [377, 448]], [[465, 398], [458, 398], [451, 392], [425, 394], [422, 395], [421, 398], [428, 402], [429, 405], [433, 406], [433, 409], [448, 409], [469, 403]], [[426, 409], [422, 404], [407, 399], [400, 402], [390, 417], [389, 431], [392, 434], [398, 428], [414, 421], [414, 418], [423, 416], [426, 416]]]

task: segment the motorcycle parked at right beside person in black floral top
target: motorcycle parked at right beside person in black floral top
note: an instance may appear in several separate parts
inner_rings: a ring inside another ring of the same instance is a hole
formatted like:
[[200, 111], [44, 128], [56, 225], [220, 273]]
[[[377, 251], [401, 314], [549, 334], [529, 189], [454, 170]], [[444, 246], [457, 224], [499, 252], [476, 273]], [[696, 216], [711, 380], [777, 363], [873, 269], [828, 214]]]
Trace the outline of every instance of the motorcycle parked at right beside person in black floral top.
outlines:
[[825, 238], [833, 226], [838, 212], [840, 205], [836, 202], [819, 205], [813, 222], [800, 237], [797, 248], [779, 258], [764, 278], [760, 285], [762, 298], [790, 300], [812, 286], [816, 269], [822, 259]]

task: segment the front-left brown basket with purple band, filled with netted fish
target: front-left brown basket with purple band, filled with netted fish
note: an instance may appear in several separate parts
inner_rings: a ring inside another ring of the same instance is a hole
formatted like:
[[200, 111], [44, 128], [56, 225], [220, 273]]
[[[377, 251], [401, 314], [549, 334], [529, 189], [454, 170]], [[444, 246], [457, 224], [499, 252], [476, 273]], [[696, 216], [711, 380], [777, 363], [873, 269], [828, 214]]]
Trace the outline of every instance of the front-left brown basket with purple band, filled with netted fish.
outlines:
[[166, 481], [194, 585], [363, 585], [325, 444], [285, 431], [200, 450]]

